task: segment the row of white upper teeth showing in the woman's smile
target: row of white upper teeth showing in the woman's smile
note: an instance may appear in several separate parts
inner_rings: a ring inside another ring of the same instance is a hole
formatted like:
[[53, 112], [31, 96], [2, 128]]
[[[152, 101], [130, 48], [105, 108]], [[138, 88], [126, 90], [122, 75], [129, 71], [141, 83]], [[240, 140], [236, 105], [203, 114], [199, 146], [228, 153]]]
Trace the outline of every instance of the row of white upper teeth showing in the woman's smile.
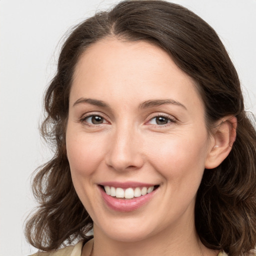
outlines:
[[154, 186], [145, 187], [135, 187], [134, 189], [129, 187], [123, 189], [121, 187], [113, 187], [113, 186], [104, 186], [105, 192], [108, 195], [115, 196], [117, 198], [133, 198], [139, 197], [141, 195], [145, 195], [147, 193], [151, 193], [154, 189]]

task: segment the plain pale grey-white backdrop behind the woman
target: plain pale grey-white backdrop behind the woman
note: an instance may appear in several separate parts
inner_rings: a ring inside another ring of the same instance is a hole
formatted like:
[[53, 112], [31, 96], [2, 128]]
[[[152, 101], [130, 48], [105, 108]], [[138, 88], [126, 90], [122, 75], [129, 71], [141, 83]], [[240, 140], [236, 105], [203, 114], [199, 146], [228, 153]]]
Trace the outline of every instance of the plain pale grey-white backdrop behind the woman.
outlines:
[[[35, 252], [23, 222], [35, 206], [30, 175], [52, 152], [39, 136], [42, 94], [68, 28], [114, 0], [0, 0], [0, 256]], [[219, 34], [256, 113], [256, 0], [173, 0]]]

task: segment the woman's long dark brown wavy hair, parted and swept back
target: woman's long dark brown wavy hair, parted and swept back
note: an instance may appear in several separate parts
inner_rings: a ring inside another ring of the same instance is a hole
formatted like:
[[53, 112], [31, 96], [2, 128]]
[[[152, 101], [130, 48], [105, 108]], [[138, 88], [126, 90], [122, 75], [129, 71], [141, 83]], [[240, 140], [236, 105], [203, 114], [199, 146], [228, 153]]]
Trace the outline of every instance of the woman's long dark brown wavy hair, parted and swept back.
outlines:
[[244, 111], [237, 72], [216, 32], [190, 10], [162, 0], [127, 0], [96, 13], [69, 33], [57, 71], [44, 96], [43, 137], [53, 158], [39, 167], [32, 190], [39, 203], [26, 222], [29, 243], [57, 249], [89, 239], [92, 220], [74, 190], [65, 150], [65, 127], [72, 76], [79, 56], [99, 39], [145, 40], [169, 53], [196, 81], [208, 128], [226, 115], [237, 118], [236, 140], [226, 159], [205, 169], [195, 204], [202, 243], [230, 256], [247, 255], [256, 244], [256, 132]]

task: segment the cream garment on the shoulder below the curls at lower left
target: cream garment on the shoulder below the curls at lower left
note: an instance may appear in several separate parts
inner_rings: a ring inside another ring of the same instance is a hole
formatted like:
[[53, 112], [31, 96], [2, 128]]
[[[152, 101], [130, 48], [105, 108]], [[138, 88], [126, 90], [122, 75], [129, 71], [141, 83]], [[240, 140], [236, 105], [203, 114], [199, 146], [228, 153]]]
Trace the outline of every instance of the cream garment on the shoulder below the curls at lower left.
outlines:
[[81, 240], [72, 246], [66, 246], [49, 252], [36, 252], [30, 256], [81, 256], [82, 245], [83, 241]]

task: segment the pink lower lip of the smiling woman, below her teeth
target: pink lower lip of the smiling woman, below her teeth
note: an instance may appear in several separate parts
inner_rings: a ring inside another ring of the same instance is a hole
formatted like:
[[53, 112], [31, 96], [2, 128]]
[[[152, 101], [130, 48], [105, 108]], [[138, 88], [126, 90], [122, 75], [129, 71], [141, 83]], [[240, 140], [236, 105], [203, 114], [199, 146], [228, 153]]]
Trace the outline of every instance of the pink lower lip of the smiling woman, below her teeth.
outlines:
[[121, 199], [112, 197], [111, 195], [106, 194], [101, 187], [99, 187], [99, 190], [106, 205], [110, 209], [113, 209], [115, 211], [132, 211], [147, 203], [155, 194], [157, 189], [153, 190], [148, 194], [141, 195], [139, 197], [133, 197], [132, 199]]

